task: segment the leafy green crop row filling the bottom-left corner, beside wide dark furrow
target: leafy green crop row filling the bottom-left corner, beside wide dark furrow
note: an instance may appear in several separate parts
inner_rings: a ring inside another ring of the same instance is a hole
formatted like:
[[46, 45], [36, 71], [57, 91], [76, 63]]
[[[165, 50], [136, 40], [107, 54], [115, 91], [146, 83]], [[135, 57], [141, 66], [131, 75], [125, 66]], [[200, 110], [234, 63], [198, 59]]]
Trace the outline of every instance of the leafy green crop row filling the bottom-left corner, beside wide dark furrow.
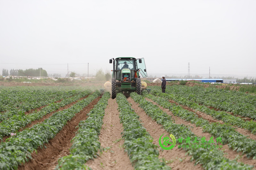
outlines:
[[39, 146], [43, 147], [49, 139], [52, 139], [62, 127], [71, 120], [76, 113], [90, 104], [100, 95], [99, 91], [92, 93], [86, 99], [81, 100], [68, 109], [54, 113], [44, 122], [34, 125], [30, 129], [17, 132], [0, 144], [0, 169], [17, 169], [18, 165], [31, 158], [31, 153]]

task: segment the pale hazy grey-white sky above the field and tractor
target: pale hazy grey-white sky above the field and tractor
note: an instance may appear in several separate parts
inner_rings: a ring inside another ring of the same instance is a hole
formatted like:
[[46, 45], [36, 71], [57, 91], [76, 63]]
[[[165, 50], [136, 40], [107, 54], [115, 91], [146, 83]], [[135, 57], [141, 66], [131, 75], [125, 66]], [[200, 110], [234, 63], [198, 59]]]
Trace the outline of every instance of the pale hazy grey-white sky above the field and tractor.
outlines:
[[256, 1], [0, 0], [0, 74], [93, 74], [119, 56], [144, 57], [153, 76], [190, 63], [190, 75], [256, 78]]

